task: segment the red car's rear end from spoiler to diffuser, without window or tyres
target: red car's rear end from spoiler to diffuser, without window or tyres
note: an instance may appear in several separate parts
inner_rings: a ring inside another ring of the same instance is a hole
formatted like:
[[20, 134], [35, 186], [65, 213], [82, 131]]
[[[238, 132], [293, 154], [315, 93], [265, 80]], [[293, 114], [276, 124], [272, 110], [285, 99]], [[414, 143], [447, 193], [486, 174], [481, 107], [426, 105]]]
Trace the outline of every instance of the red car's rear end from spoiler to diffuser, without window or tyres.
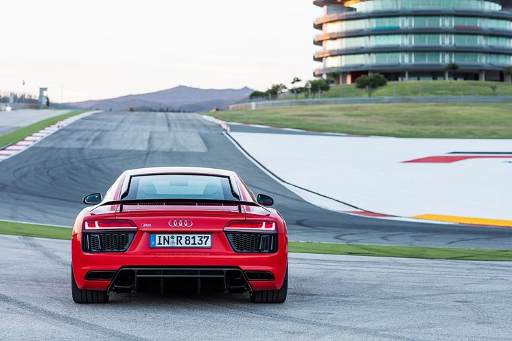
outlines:
[[283, 287], [288, 237], [277, 211], [218, 198], [176, 200], [136, 198], [85, 212], [72, 239], [76, 286], [248, 291], [251, 298]]

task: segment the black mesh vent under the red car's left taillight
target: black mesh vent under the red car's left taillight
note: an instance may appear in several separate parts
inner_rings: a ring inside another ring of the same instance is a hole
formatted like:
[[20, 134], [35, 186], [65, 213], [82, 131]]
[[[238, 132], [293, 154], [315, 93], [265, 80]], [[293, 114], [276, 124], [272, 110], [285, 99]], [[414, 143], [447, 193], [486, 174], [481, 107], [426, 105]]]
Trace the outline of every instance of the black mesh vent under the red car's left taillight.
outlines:
[[84, 238], [86, 252], [125, 252], [132, 244], [135, 233], [87, 233]]

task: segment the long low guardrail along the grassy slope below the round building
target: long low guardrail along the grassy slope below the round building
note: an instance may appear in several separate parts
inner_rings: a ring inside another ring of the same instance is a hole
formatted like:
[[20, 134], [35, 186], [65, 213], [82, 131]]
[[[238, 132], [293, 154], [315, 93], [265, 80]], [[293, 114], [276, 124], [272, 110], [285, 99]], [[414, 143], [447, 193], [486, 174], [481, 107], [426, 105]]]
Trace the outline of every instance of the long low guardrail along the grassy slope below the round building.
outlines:
[[338, 97], [283, 99], [232, 104], [229, 110], [255, 110], [281, 106], [312, 106], [316, 104], [379, 104], [379, 103], [512, 103], [512, 96], [411, 96], [411, 97]]

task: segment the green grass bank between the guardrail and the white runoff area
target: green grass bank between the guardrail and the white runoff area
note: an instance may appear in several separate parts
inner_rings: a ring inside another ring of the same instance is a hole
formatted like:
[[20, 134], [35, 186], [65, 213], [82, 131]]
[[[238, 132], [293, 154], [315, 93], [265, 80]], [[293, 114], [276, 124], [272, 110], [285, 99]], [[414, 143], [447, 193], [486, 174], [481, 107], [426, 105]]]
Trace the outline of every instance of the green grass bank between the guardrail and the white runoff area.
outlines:
[[218, 119], [391, 137], [512, 139], [512, 103], [387, 103], [227, 110]]

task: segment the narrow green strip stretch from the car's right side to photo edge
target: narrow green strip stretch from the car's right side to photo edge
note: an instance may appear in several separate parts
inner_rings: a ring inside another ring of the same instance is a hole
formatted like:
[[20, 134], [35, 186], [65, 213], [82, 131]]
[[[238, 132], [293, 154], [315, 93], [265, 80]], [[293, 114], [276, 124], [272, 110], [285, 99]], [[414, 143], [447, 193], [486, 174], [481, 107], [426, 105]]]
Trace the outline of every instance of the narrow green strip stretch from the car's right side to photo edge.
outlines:
[[325, 255], [512, 261], [512, 250], [487, 250], [481, 248], [423, 248], [418, 246], [289, 242], [288, 250], [290, 252], [319, 253]]

